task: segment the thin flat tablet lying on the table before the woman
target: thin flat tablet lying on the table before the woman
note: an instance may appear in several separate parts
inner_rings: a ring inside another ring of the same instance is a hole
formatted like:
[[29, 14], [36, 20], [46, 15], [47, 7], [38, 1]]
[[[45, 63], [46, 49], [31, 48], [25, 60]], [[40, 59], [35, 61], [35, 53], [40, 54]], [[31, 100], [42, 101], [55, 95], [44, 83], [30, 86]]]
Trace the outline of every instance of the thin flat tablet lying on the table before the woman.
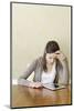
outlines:
[[54, 83], [43, 83], [43, 87], [46, 89], [53, 90], [53, 91], [66, 88], [66, 85], [64, 85], [64, 84], [54, 84]]

